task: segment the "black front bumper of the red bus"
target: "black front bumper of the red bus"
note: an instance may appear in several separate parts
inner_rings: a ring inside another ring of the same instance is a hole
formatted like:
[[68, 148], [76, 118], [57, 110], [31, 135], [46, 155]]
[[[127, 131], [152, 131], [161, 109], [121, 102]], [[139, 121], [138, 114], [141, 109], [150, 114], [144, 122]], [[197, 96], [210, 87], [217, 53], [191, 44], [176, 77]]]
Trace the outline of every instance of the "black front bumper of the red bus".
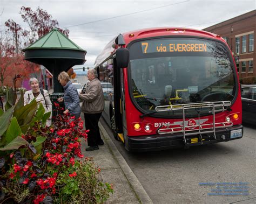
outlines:
[[218, 142], [227, 142], [237, 138], [230, 138], [230, 132], [232, 130], [242, 129], [242, 125], [233, 125], [230, 128], [220, 128], [215, 131], [216, 139], [213, 133], [201, 133], [200, 135], [186, 136], [186, 143], [183, 138], [183, 133], [174, 133], [166, 135], [149, 135], [149, 136], [133, 136], [126, 137], [125, 146], [126, 149], [133, 152], [143, 151], [158, 151], [165, 149], [172, 149], [177, 147], [190, 147], [205, 144], [213, 144]]

